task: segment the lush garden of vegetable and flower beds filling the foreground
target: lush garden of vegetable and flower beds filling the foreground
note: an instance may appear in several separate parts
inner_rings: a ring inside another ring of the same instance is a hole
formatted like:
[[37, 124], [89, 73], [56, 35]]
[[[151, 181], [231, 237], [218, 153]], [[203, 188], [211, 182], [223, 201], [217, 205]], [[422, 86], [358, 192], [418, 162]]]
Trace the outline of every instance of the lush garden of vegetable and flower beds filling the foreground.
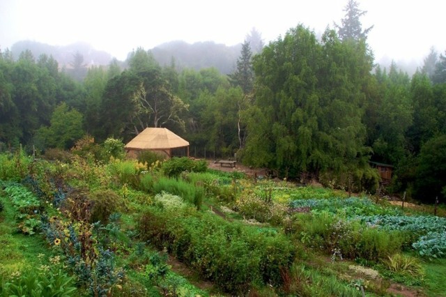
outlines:
[[1, 296], [446, 296], [446, 209], [79, 141], [0, 154]]

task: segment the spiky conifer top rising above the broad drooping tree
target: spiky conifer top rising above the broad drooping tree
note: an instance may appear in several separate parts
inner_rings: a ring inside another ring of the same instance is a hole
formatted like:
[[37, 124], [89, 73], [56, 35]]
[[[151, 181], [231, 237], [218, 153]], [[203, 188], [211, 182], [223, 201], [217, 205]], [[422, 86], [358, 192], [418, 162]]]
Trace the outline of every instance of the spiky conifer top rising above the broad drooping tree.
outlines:
[[365, 15], [367, 11], [360, 10], [359, 3], [355, 0], [348, 0], [344, 11], [346, 14], [341, 20], [341, 25], [334, 24], [335, 28], [338, 30], [339, 38], [341, 38], [341, 40], [365, 40], [369, 31], [373, 28], [373, 26], [370, 26], [369, 28], [362, 30], [360, 17]]

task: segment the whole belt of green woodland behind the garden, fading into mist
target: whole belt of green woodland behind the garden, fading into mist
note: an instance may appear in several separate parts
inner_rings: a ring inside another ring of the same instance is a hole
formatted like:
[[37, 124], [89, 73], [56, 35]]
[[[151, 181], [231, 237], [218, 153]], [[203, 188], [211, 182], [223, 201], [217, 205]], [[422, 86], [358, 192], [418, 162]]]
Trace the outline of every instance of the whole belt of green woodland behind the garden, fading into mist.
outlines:
[[166, 127], [198, 158], [237, 158], [281, 178], [311, 174], [374, 191], [372, 160], [394, 166], [389, 191], [444, 199], [446, 53], [431, 50], [411, 77], [396, 63], [375, 66], [365, 12], [355, 1], [345, 11], [321, 38], [298, 24], [264, 45], [253, 29], [235, 52], [176, 42], [88, 68], [73, 53], [71, 68], [84, 71], [77, 78], [51, 53], [23, 50], [14, 59], [3, 50], [0, 147], [67, 149], [85, 135], [126, 142]]

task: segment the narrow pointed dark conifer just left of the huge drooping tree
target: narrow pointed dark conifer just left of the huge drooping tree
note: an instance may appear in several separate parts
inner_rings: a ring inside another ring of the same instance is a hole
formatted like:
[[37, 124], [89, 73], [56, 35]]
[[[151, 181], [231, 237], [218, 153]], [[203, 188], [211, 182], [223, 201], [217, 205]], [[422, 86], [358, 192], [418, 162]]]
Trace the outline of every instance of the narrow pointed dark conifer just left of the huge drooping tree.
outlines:
[[237, 59], [237, 68], [229, 75], [229, 80], [233, 86], [240, 86], [243, 93], [251, 93], [254, 84], [254, 73], [252, 70], [252, 52], [249, 41], [245, 40], [242, 51]]

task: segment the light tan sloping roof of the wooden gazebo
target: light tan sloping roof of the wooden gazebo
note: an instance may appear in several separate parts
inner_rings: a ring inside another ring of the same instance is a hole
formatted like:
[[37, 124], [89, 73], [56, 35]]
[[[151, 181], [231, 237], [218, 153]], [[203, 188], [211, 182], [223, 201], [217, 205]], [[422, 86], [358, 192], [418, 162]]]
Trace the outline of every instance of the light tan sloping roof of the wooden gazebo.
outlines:
[[167, 128], [146, 128], [124, 147], [134, 150], [162, 150], [185, 146], [189, 146], [189, 142]]

